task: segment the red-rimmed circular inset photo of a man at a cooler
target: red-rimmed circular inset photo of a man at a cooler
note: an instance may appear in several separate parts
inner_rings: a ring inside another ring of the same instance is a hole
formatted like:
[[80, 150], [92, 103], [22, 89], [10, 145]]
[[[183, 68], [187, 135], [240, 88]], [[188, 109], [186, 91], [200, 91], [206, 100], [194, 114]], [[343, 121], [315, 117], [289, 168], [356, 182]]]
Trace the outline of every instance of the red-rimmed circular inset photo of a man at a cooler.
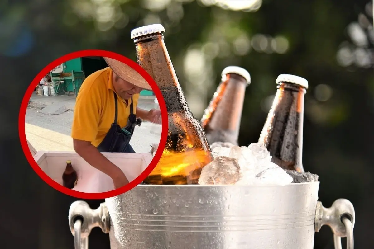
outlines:
[[19, 136], [35, 172], [84, 199], [122, 194], [150, 174], [168, 133], [165, 101], [136, 62], [83, 50], [47, 65], [19, 112]]

